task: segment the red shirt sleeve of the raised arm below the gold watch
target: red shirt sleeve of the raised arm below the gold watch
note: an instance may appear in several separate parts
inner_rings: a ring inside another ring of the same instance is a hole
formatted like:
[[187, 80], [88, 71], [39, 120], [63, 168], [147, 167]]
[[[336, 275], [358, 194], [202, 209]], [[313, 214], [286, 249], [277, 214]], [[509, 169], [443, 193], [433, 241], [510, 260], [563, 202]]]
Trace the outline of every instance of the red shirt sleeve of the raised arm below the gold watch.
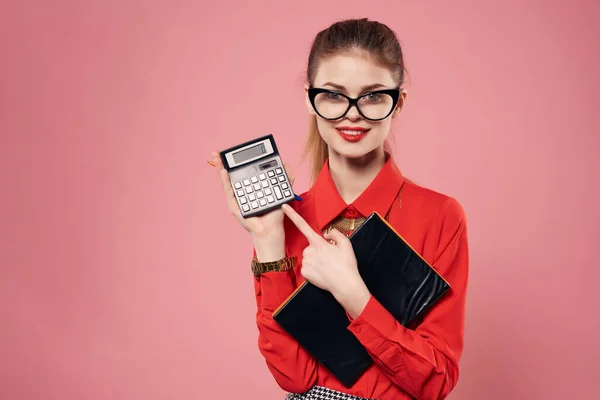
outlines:
[[277, 384], [290, 393], [305, 393], [317, 382], [317, 361], [273, 319], [273, 312], [296, 288], [293, 270], [254, 278], [258, 348]]

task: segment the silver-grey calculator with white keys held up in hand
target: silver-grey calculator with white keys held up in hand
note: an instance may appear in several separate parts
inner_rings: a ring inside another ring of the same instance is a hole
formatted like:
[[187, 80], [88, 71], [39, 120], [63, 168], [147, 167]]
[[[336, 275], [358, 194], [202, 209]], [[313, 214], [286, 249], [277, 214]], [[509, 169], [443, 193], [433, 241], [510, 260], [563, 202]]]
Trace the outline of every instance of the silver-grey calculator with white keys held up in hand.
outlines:
[[242, 217], [267, 213], [294, 200], [273, 135], [220, 152]]

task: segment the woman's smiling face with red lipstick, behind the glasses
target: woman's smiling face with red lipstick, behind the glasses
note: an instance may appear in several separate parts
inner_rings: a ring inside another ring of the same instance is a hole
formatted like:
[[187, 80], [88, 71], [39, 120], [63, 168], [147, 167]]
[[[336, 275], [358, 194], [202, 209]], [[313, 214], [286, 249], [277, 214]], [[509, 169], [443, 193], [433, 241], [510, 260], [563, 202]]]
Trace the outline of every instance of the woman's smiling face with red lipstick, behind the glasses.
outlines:
[[[360, 54], [345, 54], [323, 60], [315, 74], [313, 85], [315, 88], [330, 89], [356, 98], [374, 90], [395, 89], [398, 83], [388, 68]], [[315, 101], [321, 114], [325, 107], [330, 109], [338, 107], [344, 110], [347, 108], [347, 105], [344, 107], [346, 100], [339, 96], [327, 94], [319, 96], [323, 96], [322, 100]], [[316, 114], [308, 94], [306, 101], [309, 111], [317, 116], [319, 132], [329, 146], [330, 152], [333, 151], [347, 158], [359, 158], [383, 146], [390, 132], [392, 118], [402, 109], [405, 97], [406, 92], [403, 90], [394, 112], [381, 121], [370, 121], [364, 118], [356, 107], [350, 108], [345, 116], [337, 120], [327, 120]], [[369, 111], [369, 107], [385, 107], [381, 104], [382, 101], [385, 100], [382, 100], [381, 96], [364, 98], [359, 102], [359, 107], [365, 113]], [[336, 105], [336, 102], [340, 104]], [[388, 110], [390, 108], [391, 106]], [[373, 118], [371, 115], [367, 116]]]

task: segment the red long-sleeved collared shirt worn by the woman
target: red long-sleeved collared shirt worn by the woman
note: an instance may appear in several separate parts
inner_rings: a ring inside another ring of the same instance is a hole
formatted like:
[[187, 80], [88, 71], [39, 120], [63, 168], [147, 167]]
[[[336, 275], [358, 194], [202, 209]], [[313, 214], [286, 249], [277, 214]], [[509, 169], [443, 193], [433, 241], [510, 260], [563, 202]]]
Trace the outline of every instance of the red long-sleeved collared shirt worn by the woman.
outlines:
[[351, 205], [337, 192], [328, 162], [301, 197], [302, 201], [290, 205], [317, 232], [341, 213], [368, 216], [377, 211], [383, 216], [394, 202], [390, 224], [449, 282], [451, 289], [414, 330], [398, 323], [371, 296], [363, 312], [350, 320], [348, 329], [375, 362], [354, 386], [346, 388], [272, 318], [273, 311], [304, 281], [300, 268], [308, 242], [286, 218], [286, 254], [297, 257], [296, 267], [254, 279], [258, 346], [279, 386], [288, 392], [304, 393], [318, 385], [382, 400], [446, 397], [458, 380], [463, 349], [468, 249], [460, 204], [405, 180], [391, 158]]

